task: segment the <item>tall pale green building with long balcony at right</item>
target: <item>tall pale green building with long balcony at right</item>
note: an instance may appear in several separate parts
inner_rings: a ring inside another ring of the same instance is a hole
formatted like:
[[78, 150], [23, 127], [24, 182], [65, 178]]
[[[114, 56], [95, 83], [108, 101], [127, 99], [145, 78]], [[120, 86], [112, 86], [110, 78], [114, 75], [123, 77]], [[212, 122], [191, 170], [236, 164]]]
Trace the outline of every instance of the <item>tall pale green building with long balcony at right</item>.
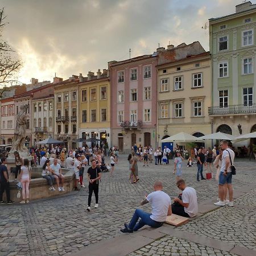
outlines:
[[213, 132], [237, 137], [256, 131], [255, 33], [256, 5], [251, 2], [236, 6], [234, 14], [209, 19]]

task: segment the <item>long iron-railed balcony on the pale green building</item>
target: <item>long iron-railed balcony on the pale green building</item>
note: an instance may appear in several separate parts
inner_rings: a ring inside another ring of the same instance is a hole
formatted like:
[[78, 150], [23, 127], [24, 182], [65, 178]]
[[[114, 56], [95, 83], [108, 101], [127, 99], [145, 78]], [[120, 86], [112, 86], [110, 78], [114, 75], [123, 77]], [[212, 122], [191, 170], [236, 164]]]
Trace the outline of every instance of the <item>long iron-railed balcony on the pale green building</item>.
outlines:
[[230, 105], [227, 108], [214, 106], [208, 108], [209, 115], [234, 115], [234, 114], [253, 114], [256, 113], [256, 104], [250, 106], [245, 105]]

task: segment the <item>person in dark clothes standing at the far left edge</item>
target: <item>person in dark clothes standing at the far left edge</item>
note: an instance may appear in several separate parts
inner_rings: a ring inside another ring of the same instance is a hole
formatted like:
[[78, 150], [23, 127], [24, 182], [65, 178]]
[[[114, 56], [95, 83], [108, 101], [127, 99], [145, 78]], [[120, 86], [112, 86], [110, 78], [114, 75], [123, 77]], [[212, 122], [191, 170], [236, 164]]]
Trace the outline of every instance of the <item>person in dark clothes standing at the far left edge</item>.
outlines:
[[13, 204], [14, 201], [10, 199], [10, 183], [9, 183], [9, 174], [6, 167], [7, 159], [1, 158], [0, 164], [0, 204], [5, 204], [3, 201], [3, 192], [6, 192], [7, 204]]

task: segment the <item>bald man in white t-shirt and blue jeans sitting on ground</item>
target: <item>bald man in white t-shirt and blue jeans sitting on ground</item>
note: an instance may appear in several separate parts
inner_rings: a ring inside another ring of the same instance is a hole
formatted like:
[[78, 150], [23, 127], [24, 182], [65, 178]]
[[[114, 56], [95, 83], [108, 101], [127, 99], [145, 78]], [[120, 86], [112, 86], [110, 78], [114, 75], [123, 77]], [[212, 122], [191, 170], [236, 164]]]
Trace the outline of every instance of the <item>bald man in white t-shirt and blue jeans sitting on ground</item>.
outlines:
[[[141, 205], [151, 203], [152, 213], [146, 213], [141, 209], [136, 209], [131, 221], [125, 224], [125, 228], [121, 229], [123, 233], [133, 233], [144, 225], [152, 228], [159, 228], [166, 221], [166, 217], [172, 214], [171, 199], [163, 191], [161, 181], [156, 181], [154, 184], [154, 192], [150, 193], [141, 201]], [[139, 220], [141, 218], [141, 220]], [[137, 222], [139, 220], [139, 222]]]

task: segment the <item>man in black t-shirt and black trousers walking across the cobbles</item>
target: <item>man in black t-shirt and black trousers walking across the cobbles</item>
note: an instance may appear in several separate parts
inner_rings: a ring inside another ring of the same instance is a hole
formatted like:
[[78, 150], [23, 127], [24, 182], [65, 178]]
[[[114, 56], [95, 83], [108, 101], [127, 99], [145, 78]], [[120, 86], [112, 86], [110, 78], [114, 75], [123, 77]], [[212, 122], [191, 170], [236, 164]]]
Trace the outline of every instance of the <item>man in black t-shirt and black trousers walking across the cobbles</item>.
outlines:
[[88, 196], [88, 207], [86, 210], [90, 211], [90, 201], [92, 201], [92, 193], [95, 195], [95, 206], [98, 208], [98, 183], [101, 179], [101, 169], [96, 166], [96, 160], [91, 161], [92, 166], [87, 171], [87, 178], [89, 180], [89, 196]]

